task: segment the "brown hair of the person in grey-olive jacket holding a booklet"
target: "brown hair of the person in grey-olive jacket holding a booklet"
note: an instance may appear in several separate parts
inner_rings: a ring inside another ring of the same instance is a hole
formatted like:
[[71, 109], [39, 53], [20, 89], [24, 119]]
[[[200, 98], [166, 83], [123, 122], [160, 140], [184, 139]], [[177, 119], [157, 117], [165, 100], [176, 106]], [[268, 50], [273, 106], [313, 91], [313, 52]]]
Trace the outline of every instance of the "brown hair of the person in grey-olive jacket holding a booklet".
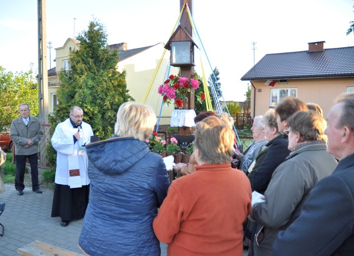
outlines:
[[291, 132], [298, 132], [302, 141], [327, 141], [326, 122], [314, 111], [298, 111], [286, 120]]

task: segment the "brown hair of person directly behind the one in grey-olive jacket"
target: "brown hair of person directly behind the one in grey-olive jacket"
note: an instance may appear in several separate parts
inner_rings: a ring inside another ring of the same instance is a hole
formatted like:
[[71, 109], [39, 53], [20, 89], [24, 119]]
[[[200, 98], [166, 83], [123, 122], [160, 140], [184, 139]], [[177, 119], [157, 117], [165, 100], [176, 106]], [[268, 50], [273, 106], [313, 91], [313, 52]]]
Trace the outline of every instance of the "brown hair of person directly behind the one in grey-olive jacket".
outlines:
[[275, 109], [275, 113], [280, 117], [281, 121], [286, 121], [297, 111], [309, 111], [309, 109], [301, 99], [294, 96], [283, 98]]

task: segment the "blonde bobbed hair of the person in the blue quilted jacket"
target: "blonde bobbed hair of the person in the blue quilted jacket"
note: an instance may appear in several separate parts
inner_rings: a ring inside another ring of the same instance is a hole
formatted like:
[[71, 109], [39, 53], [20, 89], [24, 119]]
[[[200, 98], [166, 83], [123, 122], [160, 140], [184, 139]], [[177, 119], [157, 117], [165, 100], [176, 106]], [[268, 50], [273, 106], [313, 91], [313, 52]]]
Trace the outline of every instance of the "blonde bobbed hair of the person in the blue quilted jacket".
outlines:
[[157, 118], [150, 106], [127, 101], [118, 109], [114, 133], [144, 141], [150, 137], [156, 122]]

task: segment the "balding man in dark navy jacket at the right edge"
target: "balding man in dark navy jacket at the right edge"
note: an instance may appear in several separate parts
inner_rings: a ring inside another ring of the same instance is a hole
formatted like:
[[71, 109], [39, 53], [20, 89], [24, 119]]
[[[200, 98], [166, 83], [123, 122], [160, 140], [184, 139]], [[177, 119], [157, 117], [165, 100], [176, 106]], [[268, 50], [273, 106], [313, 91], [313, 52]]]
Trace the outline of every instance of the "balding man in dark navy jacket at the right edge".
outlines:
[[279, 233], [273, 255], [349, 256], [354, 252], [354, 94], [328, 114], [327, 151], [340, 160], [332, 175], [315, 185], [299, 218]]

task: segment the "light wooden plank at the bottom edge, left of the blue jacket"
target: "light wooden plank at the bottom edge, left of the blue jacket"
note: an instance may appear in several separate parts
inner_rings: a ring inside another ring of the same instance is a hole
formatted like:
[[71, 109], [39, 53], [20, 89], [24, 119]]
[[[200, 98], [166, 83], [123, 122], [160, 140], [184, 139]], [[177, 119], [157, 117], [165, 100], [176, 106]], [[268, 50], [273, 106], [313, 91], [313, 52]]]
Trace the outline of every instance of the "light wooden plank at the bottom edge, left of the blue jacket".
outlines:
[[50, 245], [38, 240], [17, 249], [17, 252], [25, 256], [78, 256], [69, 250]]

